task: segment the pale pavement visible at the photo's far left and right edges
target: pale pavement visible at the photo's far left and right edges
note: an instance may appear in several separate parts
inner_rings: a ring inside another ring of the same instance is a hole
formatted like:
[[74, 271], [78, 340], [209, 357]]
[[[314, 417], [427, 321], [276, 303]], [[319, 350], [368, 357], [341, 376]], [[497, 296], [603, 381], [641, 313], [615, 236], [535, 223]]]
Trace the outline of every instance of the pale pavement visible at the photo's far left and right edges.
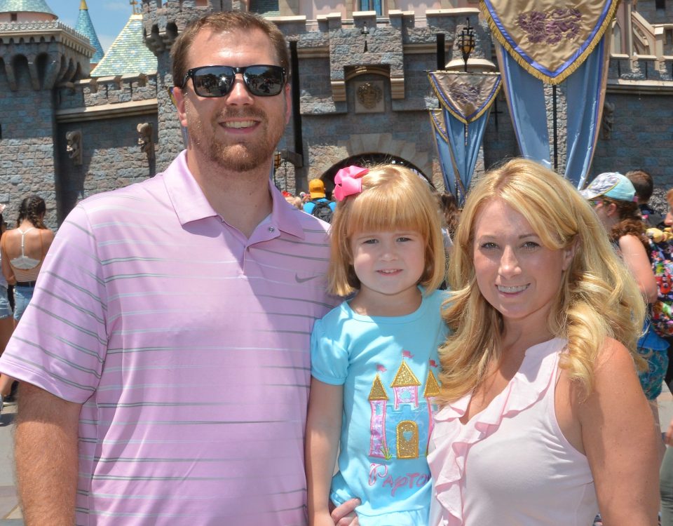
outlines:
[[[663, 431], [673, 419], [673, 395], [664, 384], [659, 403]], [[24, 526], [14, 485], [14, 420], [16, 405], [4, 407], [0, 414], [0, 526]]]

